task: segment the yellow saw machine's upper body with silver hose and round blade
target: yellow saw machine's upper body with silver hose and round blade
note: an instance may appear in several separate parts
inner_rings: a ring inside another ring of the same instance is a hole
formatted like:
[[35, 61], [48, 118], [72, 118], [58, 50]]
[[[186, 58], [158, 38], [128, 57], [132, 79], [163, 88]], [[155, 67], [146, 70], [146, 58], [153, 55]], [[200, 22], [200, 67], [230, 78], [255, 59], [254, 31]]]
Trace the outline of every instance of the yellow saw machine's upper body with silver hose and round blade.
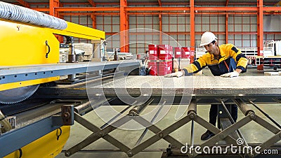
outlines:
[[[0, 8], [0, 66], [58, 63], [60, 43], [54, 34], [91, 40], [105, 38], [104, 31], [66, 22], [36, 10], [4, 2], [0, 2]], [[53, 80], [59, 80], [59, 77], [1, 84], [0, 103], [22, 101], [37, 90], [38, 84]]]

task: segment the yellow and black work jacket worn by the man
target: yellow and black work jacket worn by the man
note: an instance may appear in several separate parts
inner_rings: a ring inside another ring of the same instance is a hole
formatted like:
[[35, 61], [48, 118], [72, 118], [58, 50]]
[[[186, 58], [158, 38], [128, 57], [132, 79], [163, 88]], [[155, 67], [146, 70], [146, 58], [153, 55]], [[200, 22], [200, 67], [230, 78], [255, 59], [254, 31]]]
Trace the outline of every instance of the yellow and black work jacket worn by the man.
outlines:
[[185, 74], [197, 73], [208, 66], [214, 76], [221, 76], [224, 73], [241, 69], [242, 73], [247, 71], [248, 59], [233, 44], [224, 44], [218, 46], [220, 50], [219, 59], [207, 52], [197, 61], [190, 64], [191, 67], [185, 68]]

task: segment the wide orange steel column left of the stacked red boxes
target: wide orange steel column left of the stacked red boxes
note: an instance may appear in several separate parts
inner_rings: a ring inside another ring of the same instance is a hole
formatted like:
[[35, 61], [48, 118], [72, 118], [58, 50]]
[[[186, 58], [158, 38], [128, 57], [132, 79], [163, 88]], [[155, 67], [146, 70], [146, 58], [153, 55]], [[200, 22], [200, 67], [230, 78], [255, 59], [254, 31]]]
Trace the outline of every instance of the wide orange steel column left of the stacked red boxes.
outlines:
[[126, 0], [120, 0], [120, 52], [129, 52], [129, 40], [128, 37], [128, 28], [129, 28], [129, 22], [128, 22], [128, 15], [126, 13], [127, 1]]

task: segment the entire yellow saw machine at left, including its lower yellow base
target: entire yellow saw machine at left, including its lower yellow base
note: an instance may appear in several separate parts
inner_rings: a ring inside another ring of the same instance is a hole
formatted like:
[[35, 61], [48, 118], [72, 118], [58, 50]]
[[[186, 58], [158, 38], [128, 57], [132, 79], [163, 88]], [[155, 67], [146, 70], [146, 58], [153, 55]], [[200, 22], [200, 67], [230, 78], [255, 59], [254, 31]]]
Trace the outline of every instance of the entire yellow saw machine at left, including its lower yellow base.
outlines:
[[[65, 36], [67, 42], [70, 43], [70, 48], [72, 42], [69, 41], [72, 39], [70, 37], [90, 40], [105, 38], [104, 31], [66, 22], [36, 10], [0, 1], [0, 72], [14, 66], [30, 66], [32, 69], [39, 65], [58, 64], [60, 43], [55, 38], [55, 34]], [[74, 55], [74, 51], [70, 53], [72, 53], [70, 56]], [[23, 75], [29, 77], [30, 73]], [[34, 72], [33, 75], [36, 76], [37, 73]], [[19, 77], [15, 75], [13, 78]], [[0, 73], [0, 80], [8, 80], [0, 85], [0, 103], [17, 103], [27, 99], [37, 90], [39, 84], [59, 79], [59, 76], [32, 77], [31, 80], [13, 82]], [[1, 119], [0, 123], [1, 121], [4, 119]], [[53, 130], [52, 128], [53, 125], [48, 130]], [[58, 127], [36, 141], [1, 157], [55, 157], [61, 152], [69, 134], [69, 126]], [[6, 140], [4, 137], [1, 138]], [[21, 139], [19, 138], [18, 141]], [[6, 149], [1, 148], [1, 151], [4, 150]]]

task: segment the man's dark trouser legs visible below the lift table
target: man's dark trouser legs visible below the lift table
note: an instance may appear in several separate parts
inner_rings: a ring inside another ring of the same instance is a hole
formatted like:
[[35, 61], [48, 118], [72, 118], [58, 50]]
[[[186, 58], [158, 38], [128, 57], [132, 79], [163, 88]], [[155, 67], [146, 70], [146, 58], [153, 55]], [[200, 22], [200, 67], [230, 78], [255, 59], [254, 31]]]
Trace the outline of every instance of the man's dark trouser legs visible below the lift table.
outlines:
[[[233, 117], [234, 122], [237, 121], [237, 105], [231, 104], [231, 117]], [[216, 127], [216, 116], [218, 115], [218, 104], [211, 104], [210, 112], [209, 112], [209, 122]], [[220, 128], [221, 126], [218, 125]]]

